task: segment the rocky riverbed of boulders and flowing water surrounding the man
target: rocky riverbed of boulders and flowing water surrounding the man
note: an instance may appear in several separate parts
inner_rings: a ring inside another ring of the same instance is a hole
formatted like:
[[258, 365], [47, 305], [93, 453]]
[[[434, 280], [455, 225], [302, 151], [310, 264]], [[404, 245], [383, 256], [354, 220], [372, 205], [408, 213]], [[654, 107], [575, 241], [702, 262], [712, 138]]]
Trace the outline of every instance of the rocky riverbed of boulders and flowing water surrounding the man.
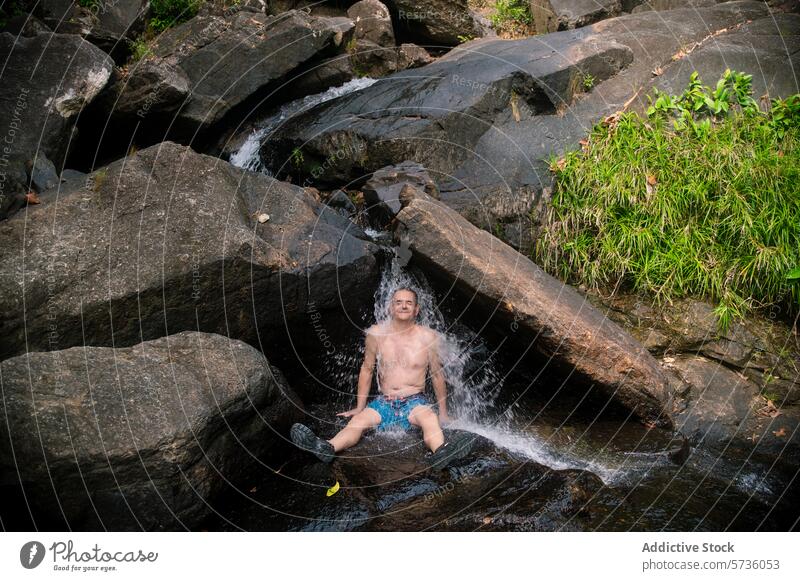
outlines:
[[[721, 333], [529, 258], [594, 123], [692, 71], [798, 93], [796, 4], [537, 2], [513, 39], [466, 0], [228, 4], [157, 35], [148, 2], [3, 23], [3, 528], [797, 526], [797, 321]], [[339, 427], [403, 282], [474, 452], [315, 463], [289, 426]]]

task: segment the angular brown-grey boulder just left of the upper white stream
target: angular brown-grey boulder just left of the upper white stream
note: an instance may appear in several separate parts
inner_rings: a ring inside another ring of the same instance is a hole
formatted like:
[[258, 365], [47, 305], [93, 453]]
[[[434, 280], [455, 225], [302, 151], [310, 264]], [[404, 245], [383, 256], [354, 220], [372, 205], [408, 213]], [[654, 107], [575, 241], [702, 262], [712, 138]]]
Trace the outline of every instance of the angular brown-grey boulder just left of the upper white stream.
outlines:
[[[147, 125], [160, 130], [160, 139], [164, 127], [169, 126], [170, 136], [184, 140], [215, 126], [244, 103], [265, 98], [301, 65], [330, 56], [337, 47], [343, 50], [345, 35], [352, 28], [347, 18], [318, 18], [301, 11], [274, 17], [256, 12], [196, 16], [161, 34], [150, 56], [120, 78], [114, 93], [123, 120], [127, 111], [138, 109], [126, 101], [138, 100], [141, 93], [138, 86], [129, 89], [128, 80], [141, 78], [137, 70], [150, 60], [180, 70], [188, 79], [189, 95], [175, 113], [148, 115]], [[161, 78], [156, 81], [163, 82]], [[157, 94], [156, 84], [150, 93]], [[115, 110], [113, 107], [106, 114], [114, 119]]]

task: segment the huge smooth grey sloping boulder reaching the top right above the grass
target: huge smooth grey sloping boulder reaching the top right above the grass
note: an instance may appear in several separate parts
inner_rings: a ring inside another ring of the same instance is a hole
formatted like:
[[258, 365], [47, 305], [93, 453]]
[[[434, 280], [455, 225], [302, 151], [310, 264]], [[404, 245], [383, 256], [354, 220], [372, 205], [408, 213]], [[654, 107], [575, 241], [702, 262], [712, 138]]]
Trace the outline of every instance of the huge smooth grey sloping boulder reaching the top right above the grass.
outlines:
[[[549, 201], [552, 157], [579, 147], [604, 117], [643, 111], [654, 86], [680, 93], [692, 70], [712, 83], [730, 66], [753, 74], [756, 95], [795, 93], [784, 71], [800, 54], [798, 18], [737, 1], [472, 41], [307, 111], [262, 154], [274, 170], [306, 176], [333, 155], [321, 178], [334, 187], [404, 160], [425, 164], [443, 201], [527, 249]], [[296, 148], [308, 167], [285, 164]]]

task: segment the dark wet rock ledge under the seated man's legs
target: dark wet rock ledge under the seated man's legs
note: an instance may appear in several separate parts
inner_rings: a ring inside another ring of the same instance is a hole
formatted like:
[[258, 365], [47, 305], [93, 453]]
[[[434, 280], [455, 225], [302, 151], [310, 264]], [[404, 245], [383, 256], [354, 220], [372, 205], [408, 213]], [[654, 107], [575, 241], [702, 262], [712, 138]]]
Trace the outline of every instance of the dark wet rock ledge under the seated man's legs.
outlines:
[[[319, 433], [329, 437], [333, 430], [330, 426]], [[426, 464], [419, 432], [371, 433], [330, 465], [298, 453], [282, 466], [280, 475], [270, 479], [270, 489], [280, 491], [271, 495], [271, 506], [277, 511], [271, 511], [270, 527], [302, 531], [580, 528], [590, 511], [589, 499], [602, 488], [597, 476], [579, 470], [553, 471], [472, 436], [472, 452], [442, 471]], [[335, 483], [338, 491], [328, 496], [326, 491]], [[519, 505], [510, 506], [514, 499], [520, 500]], [[264, 526], [264, 516], [249, 510], [233, 519], [237, 526], [253, 530]]]

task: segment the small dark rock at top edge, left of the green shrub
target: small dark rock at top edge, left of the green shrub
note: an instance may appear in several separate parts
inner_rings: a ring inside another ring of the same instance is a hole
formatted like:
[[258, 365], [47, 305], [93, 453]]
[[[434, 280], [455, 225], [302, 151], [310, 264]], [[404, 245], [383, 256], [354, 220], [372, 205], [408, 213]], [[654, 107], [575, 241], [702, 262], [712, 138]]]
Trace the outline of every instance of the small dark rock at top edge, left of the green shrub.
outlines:
[[455, 46], [464, 38], [479, 38], [484, 27], [467, 0], [387, 0], [402, 30], [426, 44]]

